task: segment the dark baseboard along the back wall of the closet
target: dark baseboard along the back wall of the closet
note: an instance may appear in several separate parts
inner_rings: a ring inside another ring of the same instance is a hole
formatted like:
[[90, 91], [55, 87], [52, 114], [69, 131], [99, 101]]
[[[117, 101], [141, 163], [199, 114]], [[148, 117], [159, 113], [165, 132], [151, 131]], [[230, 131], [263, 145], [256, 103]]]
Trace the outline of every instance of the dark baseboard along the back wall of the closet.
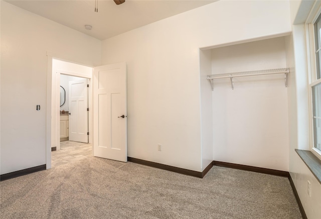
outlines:
[[242, 164], [226, 163], [221, 161], [213, 161], [213, 165], [219, 166], [219, 167], [232, 168], [232, 169], [247, 170], [247, 171], [252, 171], [257, 173], [265, 173], [270, 175], [289, 177], [289, 172], [282, 171], [282, 170], [272, 170], [272, 169], [266, 169], [262, 167], [253, 167], [253, 166], [247, 166]]

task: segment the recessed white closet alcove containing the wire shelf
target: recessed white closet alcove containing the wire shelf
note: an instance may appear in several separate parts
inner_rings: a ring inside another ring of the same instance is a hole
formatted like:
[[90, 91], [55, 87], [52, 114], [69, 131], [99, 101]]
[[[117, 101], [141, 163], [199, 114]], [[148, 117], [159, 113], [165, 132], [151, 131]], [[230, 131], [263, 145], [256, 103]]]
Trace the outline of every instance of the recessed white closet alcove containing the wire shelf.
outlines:
[[[283, 36], [200, 50], [203, 169], [213, 156], [214, 161], [288, 171], [289, 40]], [[233, 83], [229, 77], [216, 78], [212, 87], [208, 80], [208, 75], [269, 69], [284, 72], [233, 77]]]

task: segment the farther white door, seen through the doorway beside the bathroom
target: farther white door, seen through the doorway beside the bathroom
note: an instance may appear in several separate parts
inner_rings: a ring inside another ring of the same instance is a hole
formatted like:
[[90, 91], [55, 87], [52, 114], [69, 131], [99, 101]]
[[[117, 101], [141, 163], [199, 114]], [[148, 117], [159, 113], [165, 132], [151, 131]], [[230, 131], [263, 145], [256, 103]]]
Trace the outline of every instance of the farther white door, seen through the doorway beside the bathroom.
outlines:
[[87, 81], [69, 81], [69, 141], [88, 143]]

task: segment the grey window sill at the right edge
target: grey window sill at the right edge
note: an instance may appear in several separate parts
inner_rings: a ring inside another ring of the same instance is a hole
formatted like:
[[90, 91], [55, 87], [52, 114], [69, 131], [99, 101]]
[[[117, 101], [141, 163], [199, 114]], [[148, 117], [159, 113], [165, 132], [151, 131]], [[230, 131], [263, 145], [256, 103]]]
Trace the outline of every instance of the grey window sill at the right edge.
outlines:
[[312, 152], [295, 149], [296, 153], [309, 168], [317, 181], [321, 184], [321, 160], [319, 160]]

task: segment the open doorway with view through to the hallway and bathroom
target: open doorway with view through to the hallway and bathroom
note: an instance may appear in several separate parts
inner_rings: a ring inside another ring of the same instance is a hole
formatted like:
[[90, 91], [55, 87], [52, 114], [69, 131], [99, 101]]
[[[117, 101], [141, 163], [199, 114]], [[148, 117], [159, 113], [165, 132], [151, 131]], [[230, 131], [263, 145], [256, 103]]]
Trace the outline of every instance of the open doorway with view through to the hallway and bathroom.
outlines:
[[92, 67], [52, 60], [52, 167], [93, 156]]

